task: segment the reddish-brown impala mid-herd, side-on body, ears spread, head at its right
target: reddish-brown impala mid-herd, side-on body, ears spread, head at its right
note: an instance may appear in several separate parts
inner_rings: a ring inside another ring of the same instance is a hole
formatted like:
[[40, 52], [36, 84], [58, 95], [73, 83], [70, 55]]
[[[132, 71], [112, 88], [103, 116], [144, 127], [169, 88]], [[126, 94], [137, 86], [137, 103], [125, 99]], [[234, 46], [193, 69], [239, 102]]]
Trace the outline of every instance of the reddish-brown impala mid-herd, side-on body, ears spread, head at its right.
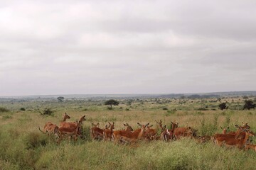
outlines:
[[144, 132], [146, 131], [147, 126], [149, 123], [146, 125], [141, 125], [140, 123], [137, 123], [141, 128], [134, 130], [134, 132], [127, 132], [122, 135], [121, 141], [125, 143], [131, 143], [131, 142], [136, 142], [137, 140], [142, 139]]

